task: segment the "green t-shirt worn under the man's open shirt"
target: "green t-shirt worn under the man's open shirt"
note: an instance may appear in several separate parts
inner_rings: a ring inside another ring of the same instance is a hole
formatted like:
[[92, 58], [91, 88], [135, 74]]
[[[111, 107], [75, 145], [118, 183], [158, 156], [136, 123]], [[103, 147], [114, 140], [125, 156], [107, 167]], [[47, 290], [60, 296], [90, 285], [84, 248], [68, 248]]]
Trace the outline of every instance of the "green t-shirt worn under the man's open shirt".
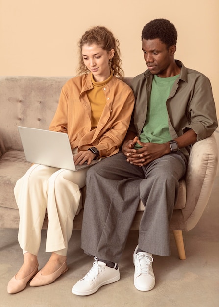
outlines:
[[[150, 99], [147, 106], [146, 121], [139, 137], [141, 142], [162, 144], [171, 140], [168, 128], [166, 101], [178, 77], [179, 75], [169, 78], [160, 78], [154, 75]], [[140, 147], [139, 144], [135, 145], [135, 148]]]

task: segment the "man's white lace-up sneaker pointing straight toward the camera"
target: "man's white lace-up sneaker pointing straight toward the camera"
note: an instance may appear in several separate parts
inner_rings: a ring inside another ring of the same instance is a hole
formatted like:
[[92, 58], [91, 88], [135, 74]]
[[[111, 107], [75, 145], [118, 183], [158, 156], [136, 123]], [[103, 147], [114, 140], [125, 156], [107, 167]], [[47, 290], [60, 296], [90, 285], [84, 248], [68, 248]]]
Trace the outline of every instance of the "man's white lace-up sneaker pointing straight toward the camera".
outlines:
[[137, 253], [138, 245], [133, 254], [135, 266], [134, 286], [140, 291], [152, 290], [155, 286], [155, 276], [152, 268], [152, 254], [146, 252]]

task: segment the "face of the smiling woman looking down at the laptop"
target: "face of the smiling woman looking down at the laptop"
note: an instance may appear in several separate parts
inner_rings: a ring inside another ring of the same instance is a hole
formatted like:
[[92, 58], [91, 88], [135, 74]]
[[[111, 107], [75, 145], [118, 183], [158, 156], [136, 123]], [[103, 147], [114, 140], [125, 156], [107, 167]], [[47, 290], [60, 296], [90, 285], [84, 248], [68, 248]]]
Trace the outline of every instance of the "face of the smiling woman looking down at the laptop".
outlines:
[[109, 60], [114, 55], [114, 49], [107, 52], [96, 44], [83, 45], [82, 57], [84, 64], [93, 74], [94, 80], [101, 82], [110, 76]]

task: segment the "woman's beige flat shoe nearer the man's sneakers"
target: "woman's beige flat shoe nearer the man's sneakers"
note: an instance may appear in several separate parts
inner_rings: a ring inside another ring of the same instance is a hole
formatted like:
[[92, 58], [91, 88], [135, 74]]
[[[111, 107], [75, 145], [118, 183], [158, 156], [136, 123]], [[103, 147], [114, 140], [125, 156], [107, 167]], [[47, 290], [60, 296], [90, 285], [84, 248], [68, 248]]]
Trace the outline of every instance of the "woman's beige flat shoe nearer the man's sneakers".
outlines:
[[69, 268], [67, 267], [66, 261], [56, 270], [54, 273], [49, 275], [42, 275], [41, 270], [36, 274], [36, 276], [30, 282], [31, 287], [44, 286], [46, 284], [52, 283], [60, 275], [64, 274]]

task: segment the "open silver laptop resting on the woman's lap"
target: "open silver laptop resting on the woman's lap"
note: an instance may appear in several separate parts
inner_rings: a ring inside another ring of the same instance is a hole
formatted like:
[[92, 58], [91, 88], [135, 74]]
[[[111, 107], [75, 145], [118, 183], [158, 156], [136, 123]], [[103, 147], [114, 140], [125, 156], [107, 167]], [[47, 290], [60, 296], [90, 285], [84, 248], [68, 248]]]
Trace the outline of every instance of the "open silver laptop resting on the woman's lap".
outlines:
[[57, 168], [78, 171], [90, 165], [75, 165], [69, 138], [66, 133], [18, 126], [26, 160]]

